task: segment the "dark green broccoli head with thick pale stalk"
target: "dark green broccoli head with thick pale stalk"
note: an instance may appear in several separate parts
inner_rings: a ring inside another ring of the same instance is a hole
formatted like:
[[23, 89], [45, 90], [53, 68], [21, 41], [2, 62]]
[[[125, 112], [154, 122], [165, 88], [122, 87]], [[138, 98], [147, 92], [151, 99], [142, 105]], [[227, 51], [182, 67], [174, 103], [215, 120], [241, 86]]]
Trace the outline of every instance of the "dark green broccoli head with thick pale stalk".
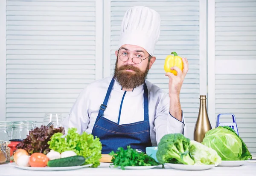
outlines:
[[158, 162], [194, 165], [195, 162], [189, 155], [189, 145], [190, 139], [180, 133], [166, 134], [158, 144]]

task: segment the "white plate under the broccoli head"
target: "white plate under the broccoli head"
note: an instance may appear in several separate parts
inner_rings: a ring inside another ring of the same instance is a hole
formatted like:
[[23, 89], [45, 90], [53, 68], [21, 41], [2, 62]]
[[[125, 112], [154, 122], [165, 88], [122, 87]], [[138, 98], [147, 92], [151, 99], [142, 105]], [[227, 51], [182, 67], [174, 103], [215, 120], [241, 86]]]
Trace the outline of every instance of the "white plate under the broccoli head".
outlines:
[[207, 170], [214, 167], [214, 165], [182, 165], [172, 163], [165, 163], [165, 165], [178, 170]]

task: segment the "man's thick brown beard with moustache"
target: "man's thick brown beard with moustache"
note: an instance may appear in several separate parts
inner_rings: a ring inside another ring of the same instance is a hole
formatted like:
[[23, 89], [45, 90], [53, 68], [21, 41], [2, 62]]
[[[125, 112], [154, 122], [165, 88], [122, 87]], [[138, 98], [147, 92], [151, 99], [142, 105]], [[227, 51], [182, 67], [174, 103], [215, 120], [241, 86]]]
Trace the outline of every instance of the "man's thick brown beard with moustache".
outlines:
[[[144, 84], [148, 75], [149, 61], [146, 70], [140, 71], [139, 68], [134, 67], [133, 65], [122, 65], [117, 68], [117, 60], [118, 59], [116, 59], [114, 77], [122, 88], [137, 88], [138, 86]], [[128, 72], [125, 70], [133, 70], [135, 72]]]

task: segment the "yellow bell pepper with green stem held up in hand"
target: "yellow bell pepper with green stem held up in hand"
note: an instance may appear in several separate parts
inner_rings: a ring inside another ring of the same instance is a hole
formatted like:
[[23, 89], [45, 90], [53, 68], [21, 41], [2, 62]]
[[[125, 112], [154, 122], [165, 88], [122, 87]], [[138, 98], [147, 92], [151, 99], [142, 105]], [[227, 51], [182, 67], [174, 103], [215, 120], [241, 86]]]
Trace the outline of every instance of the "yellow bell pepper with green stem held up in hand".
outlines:
[[172, 52], [171, 54], [174, 54], [174, 56], [168, 55], [166, 57], [163, 68], [166, 71], [166, 73], [171, 72], [176, 76], [177, 71], [171, 70], [171, 68], [176, 66], [176, 67], [180, 68], [181, 71], [183, 71], [183, 62], [182, 62], [182, 58], [179, 57], [176, 52]]

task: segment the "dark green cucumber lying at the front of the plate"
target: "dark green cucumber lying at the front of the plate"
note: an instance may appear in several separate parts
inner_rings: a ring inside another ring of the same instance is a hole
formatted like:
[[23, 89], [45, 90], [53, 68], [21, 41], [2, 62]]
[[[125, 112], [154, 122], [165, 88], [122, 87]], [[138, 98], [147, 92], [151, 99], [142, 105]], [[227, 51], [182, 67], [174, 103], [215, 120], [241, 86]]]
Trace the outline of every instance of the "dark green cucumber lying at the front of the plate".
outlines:
[[67, 158], [53, 159], [49, 160], [47, 163], [48, 167], [70, 167], [70, 166], [80, 166], [84, 164], [84, 156], [70, 156]]

